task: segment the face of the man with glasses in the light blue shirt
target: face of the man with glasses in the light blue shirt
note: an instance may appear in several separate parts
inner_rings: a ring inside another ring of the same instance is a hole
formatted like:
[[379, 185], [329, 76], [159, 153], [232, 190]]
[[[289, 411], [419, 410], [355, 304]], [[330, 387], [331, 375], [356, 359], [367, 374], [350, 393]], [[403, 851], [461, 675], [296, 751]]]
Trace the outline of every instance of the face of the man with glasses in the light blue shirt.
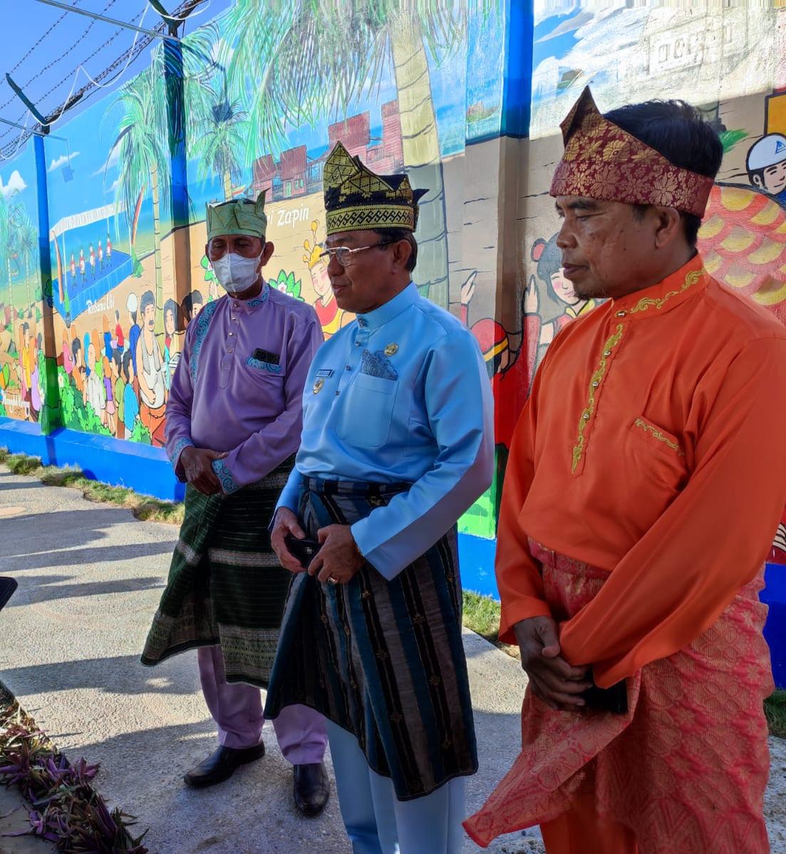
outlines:
[[[376, 247], [382, 237], [375, 231], [341, 231], [332, 234], [325, 241], [326, 249], [360, 249], [361, 246]], [[333, 294], [339, 308], [362, 314], [373, 311], [384, 303], [387, 297], [380, 294], [379, 272], [387, 261], [390, 244], [380, 249], [363, 249], [349, 256], [348, 266], [338, 263], [335, 255], [327, 265], [327, 274], [331, 280]]]

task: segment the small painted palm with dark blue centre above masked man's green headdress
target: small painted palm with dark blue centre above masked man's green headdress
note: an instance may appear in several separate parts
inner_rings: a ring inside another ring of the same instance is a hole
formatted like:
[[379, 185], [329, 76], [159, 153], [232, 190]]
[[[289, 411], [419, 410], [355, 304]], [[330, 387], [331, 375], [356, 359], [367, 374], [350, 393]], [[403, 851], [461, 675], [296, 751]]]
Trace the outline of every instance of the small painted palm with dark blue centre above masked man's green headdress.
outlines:
[[205, 87], [191, 99], [189, 114], [198, 132], [189, 137], [189, 157], [196, 159], [196, 177], [200, 180], [219, 175], [224, 184], [224, 199], [232, 198], [232, 182], [242, 174], [243, 143], [248, 114], [238, 101], [230, 102], [226, 86], [222, 95]]

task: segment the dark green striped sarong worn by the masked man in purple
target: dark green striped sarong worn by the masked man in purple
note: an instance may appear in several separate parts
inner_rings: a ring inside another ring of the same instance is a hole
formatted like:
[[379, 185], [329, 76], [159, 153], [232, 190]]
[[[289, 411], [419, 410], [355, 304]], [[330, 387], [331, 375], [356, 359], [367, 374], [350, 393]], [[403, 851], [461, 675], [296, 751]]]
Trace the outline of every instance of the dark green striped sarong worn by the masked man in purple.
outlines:
[[267, 687], [292, 577], [267, 522], [294, 457], [231, 495], [185, 491], [185, 519], [142, 664], [218, 644], [226, 681]]

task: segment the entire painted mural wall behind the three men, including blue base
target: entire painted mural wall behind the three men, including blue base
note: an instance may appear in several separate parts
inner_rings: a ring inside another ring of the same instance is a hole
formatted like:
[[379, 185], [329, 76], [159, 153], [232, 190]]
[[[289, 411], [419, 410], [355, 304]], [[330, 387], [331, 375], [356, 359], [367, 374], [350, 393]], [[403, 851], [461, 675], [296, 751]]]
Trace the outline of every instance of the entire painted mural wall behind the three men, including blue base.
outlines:
[[[319, 259], [322, 166], [341, 139], [430, 190], [415, 280], [472, 329], [496, 395], [497, 477], [460, 521], [466, 586], [493, 592], [513, 425], [554, 334], [593, 307], [554, 242], [560, 120], [587, 84], [603, 109], [705, 108], [725, 150], [707, 266], [786, 319], [786, 9], [371, 5], [319, 22], [257, 0], [204, 15], [174, 96], [158, 47], [66, 115], [67, 145], [31, 139], [0, 161], [0, 444], [179, 494], [162, 413], [185, 328], [220, 296], [204, 205], [268, 191], [266, 273], [314, 304], [329, 336], [351, 320]], [[786, 517], [772, 559], [786, 562]]]

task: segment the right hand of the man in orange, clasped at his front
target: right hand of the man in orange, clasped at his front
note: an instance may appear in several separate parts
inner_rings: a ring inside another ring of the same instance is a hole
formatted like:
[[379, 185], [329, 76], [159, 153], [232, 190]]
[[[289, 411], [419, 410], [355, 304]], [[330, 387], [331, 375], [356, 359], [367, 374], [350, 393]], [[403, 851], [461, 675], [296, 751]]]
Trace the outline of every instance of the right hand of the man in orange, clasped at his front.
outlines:
[[592, 686], [589, 668], [572, 667], [560, 655], [557, 624], [552, 617], [530, 617], [513, 626], [521, 651], [521, 667], [535, 695], [552, 709], [576, 711], [584, 705], [578, 694]]

